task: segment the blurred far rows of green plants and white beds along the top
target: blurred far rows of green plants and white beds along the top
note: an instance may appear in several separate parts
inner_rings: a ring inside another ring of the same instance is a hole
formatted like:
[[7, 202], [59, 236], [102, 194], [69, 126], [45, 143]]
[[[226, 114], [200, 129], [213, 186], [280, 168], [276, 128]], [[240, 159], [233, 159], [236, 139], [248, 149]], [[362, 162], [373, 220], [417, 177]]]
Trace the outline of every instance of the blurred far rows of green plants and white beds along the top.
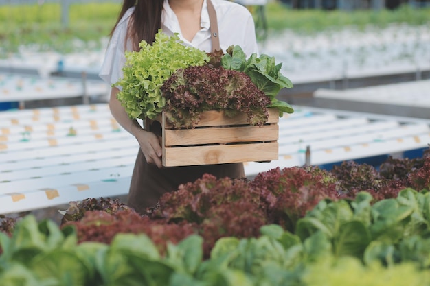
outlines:
[[[318, 88], [429, 78], [430, 1], [235, 0], [256, 20], [260, 53], [282, 62], [304, 103]], [[0, 0], [0, 71], [98, 80], [120, 0]]]

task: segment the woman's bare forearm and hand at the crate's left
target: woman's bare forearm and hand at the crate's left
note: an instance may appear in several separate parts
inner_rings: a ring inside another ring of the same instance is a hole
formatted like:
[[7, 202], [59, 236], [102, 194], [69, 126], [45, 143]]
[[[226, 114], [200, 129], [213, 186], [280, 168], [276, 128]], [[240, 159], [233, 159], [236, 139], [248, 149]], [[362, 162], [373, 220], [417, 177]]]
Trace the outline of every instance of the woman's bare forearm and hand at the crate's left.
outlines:
[[150, 164], [153, 163], [159, 168], [163, 167], [163, 164], [161, 163], [163, 152], [159, 137], [152, 132], [144, 130], [137, 120], [128, 117], [126, 110], [117, 99], [117, 94], [119, 92], [120, 90], [116, 87], [113, 87], [111, 90], [109, 108], [111, 108], [113, 117], [118, 123], [120, 123], [122, 128], [136, 137], [137, 142], [139, 142], [140, 149], [144, 153], [146, 162]]

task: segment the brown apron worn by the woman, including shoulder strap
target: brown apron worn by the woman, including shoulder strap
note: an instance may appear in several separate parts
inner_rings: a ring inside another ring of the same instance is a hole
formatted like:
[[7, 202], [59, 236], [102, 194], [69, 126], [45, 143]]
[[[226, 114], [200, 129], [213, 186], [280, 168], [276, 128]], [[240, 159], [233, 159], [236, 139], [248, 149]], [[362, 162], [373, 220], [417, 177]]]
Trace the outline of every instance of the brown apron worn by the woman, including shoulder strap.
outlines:
[[[219, 50], [216, 13], [210, 0], [207, 0], [207, 10], [211, 23], [212, 50]], [[176, 191], [180, 184], [194, 182], [203, 174], [212, 174], [217, 178], [245, 177], [243, 163], [158, 168], [156, 165], [146, 163], [145, 156], [139, 149], [131, 177], [127, 204], [135, 211], [144, 213], [147, 208], [157, 205], [163, 193]]]

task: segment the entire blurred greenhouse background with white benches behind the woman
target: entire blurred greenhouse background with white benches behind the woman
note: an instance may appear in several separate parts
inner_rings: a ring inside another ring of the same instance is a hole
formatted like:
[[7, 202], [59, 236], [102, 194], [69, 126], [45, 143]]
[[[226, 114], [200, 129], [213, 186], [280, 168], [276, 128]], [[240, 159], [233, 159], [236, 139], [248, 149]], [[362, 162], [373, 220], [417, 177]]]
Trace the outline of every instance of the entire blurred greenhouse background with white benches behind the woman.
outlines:
[[[293, 82], [278, 97], [297, 107], [280, 123], [279, 160], [251, 162], [247, 174], [377, 165], [428, 149], [430, 1], [235, 1], [255, 17], [260, 53]], [[120, 5], [0, 0], [1, 208], [82, 199], [76, 189], [128, 190], [136, 141], [111, 118], [110, 86], [98, 78]]]

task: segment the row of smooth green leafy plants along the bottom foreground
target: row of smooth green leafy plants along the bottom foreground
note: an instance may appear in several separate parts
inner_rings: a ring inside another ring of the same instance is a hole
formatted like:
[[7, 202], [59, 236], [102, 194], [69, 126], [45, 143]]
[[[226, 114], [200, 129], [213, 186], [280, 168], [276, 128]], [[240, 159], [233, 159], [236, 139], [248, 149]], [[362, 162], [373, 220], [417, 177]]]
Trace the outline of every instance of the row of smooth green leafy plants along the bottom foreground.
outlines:
[[[368, 193], [352, 202], [321, 201], [299, 219], [296, 234], [262, 226], [258, 237], [218, 239], [207, 259], [204, 239], [196, 234], [168, 241], [163, 252], [145, 233], [117, 233], [109, 244], [78, 243], [75, 228], [27, 215], [12, 237], [0, 233], [0, 283], [425, 286], [429, 198], [406, 189], [373, 206]], [[93, 225], [94, 231], [99, 227]]]

